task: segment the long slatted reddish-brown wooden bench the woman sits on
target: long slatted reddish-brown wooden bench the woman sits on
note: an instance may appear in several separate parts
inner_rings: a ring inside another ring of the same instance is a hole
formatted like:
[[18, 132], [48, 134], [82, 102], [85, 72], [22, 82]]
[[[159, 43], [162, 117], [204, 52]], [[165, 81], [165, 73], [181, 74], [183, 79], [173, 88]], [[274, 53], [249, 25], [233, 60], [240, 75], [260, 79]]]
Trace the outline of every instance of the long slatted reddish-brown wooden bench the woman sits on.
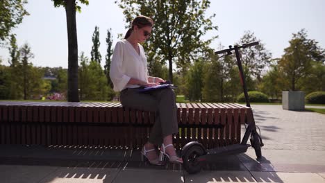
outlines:
[[[251, 108], [235, 103], [177, 103], [176, 148], [199, 141], [206, 148], [240, 143]], [[120, 103], [0, 102], [0, 143], [140, 148], [154, 112]]]

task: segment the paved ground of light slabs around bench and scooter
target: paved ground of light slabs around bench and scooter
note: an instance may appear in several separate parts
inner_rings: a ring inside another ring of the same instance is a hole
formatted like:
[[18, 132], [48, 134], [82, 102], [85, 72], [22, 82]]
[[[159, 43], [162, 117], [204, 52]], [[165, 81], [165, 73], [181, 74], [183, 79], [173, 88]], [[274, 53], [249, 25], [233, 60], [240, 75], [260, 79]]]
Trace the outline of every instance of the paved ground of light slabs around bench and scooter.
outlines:
[[1, 145], [0, 182], [325, 182], [325, 115], [252, 108], [265, 143], [259, 162], [249, 148], [188, 175], [180, 165], [141, 162], [138, 150]]

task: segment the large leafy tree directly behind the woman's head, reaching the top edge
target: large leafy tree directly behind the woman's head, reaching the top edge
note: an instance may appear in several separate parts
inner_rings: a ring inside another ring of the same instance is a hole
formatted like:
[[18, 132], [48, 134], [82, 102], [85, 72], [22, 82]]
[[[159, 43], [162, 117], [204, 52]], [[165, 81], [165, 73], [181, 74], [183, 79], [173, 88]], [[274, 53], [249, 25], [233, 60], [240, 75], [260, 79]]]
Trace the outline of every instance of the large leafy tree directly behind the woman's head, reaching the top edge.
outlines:
[[[217, 26], [213, 26], [210, 20], [215, 15], [205, 17], [205, 12], [210, 7], [208, 0], [118, 2], [119, 7], [124, 9], [127, 27], [138, 14], [147, 15], [156, 21], [151, 39], [144, 44], [149, 52], [147, 60], [149, 66], [152, 65], [150, 62], [155, 60], [168, 62], [171, 81], [173, 81], [173, 63], [180, 68], [186, 67], [204, 54], [210, 42], [216, 38], [202, 39], [208, 30], [217, 30]], [[155, 73], [151, 72], [152, 74]]]

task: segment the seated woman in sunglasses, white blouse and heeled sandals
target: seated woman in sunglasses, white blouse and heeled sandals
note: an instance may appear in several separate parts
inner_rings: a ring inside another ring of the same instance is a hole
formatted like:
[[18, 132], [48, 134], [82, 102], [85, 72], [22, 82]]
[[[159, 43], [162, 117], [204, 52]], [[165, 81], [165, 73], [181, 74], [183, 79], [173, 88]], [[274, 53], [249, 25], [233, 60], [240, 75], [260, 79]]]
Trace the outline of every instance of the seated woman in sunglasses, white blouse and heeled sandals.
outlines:
[[[172, 143], [172, 135], [178, 133], [176, 116], [176, 97], [170, 88], [157, 89], [151, 92], [138, 92], [143, 87], [159, 85], [165, 82], [162, 78], [149, 76], [147, 58], [141, 46], [151, 35], [153, 20], [138, 16], [132, 21], [124, 40], [115, 45], [110, 64], [110, 78], [115, 92], [120, 93], [122, 105], [138, 110], [156, 112], [156, 122], [151, 130], [149, 140], [144, 144], [141, 153], [151, 164], [163, 165], [163, 157], [169, 162], [182, 164], [183, 159], [177, 157]], [[160, 146], [159, 157], [154, 145]]]

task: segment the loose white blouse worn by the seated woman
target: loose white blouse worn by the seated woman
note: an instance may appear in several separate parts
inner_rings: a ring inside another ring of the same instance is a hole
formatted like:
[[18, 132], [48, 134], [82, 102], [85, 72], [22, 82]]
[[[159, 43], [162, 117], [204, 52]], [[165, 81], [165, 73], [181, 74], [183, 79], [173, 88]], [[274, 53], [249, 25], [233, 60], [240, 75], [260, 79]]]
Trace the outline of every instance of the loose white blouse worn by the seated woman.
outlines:
[[110, 63], [110, 79], [115, 92], [122, 91], [126, 87], [140, 87], [140, 85], [128, 85], [131, 78], [147, 82], [149, 77], [147, 58], [142, 45], [139, 44], [139, 48], [140, 55], [127, 40], [119, 40], [116, 43]]

